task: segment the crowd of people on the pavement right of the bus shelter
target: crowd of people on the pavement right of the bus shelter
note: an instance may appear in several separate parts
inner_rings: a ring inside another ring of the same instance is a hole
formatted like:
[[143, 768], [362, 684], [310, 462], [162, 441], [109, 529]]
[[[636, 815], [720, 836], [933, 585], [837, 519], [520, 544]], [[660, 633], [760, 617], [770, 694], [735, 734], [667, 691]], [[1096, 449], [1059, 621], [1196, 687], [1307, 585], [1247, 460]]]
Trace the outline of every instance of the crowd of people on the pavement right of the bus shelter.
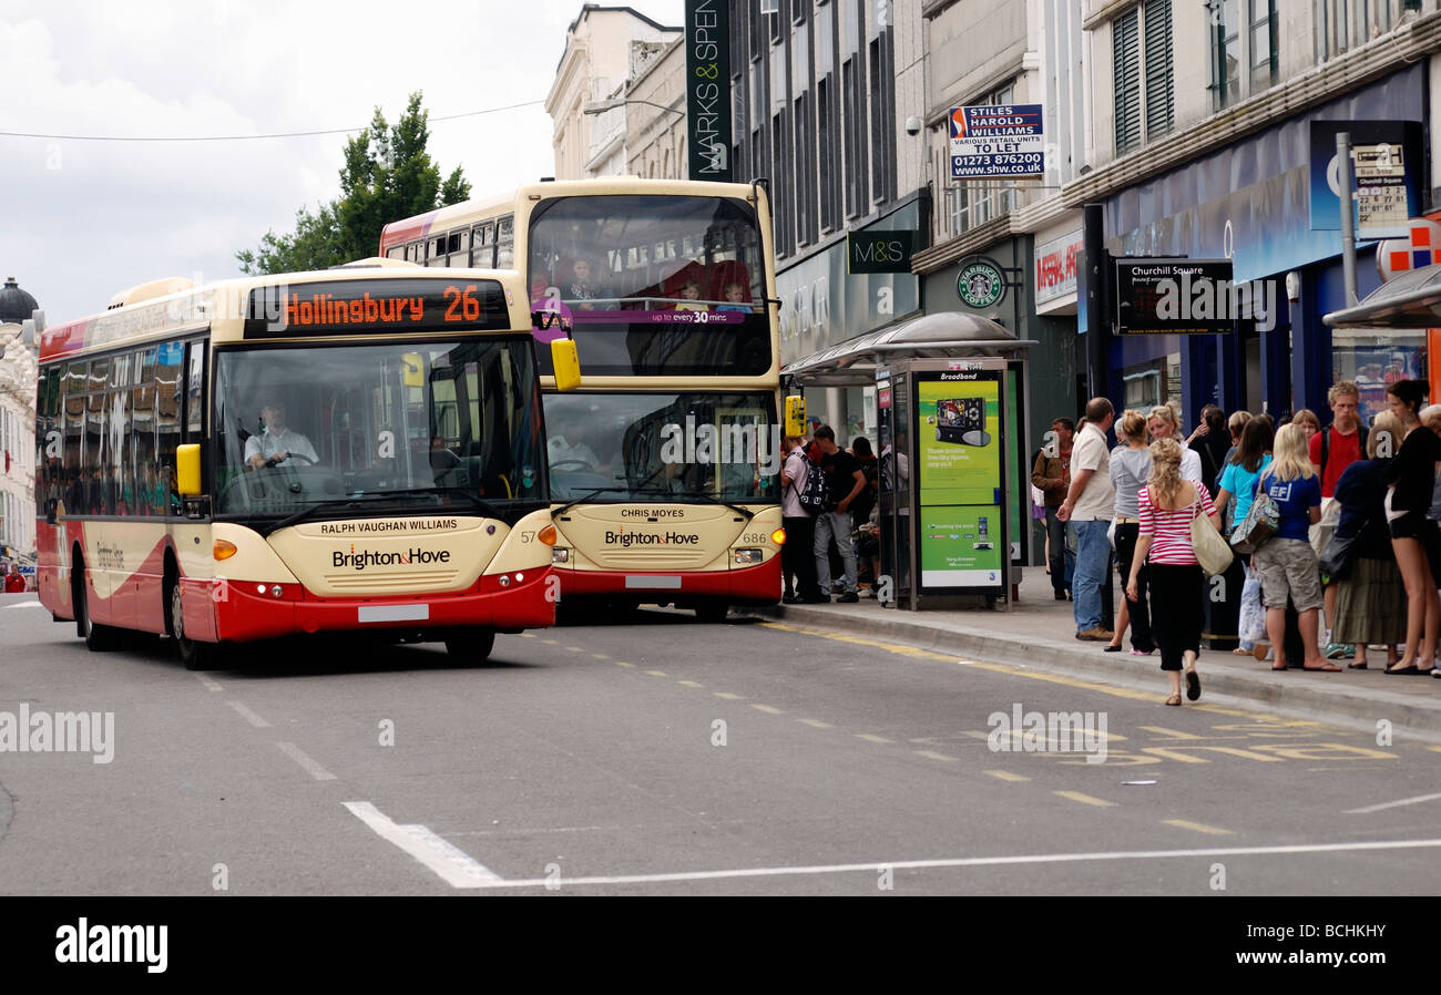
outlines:
[[1196, 553], [1208, 539], [1200, 518], [1233, 551], [1231, 567], [1213, 569], [1239, 589], [1236, 654], [1278, 671], [1342, 671], [1342, 661], [1370, 667], [1368, 649], [1380, 648], [1386, 674], [1441, 677], [1441, 405], [1425, 400], [1425, 382], [1391, 383], [1388, 410], [1368, 426], [1360, 390], [1340, 382], [1326, 428], [1310, 410], [1277, 425], [1208, 405], [1185, 439], [1166, 405], [1117, 418], [1095, 397], [1079, 426], [1056, 419], [1032, 485], [1052, 589], [1071, 599], [1076, 638], [1120, 652], [1128, 631], [1131, 654], [1159, 651], [1166, 704], [1197, 700], [1196, 659], [1216, 611]]

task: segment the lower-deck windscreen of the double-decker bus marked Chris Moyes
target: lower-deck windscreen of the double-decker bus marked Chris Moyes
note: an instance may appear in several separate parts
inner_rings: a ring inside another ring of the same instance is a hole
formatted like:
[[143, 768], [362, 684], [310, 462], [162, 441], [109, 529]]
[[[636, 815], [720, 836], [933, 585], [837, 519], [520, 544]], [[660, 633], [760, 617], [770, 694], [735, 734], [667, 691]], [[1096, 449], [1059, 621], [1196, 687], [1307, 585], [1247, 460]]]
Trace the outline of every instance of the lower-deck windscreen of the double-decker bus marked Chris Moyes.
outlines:
[[774, 500], [771, 393], [545, 395], [556, 501]]

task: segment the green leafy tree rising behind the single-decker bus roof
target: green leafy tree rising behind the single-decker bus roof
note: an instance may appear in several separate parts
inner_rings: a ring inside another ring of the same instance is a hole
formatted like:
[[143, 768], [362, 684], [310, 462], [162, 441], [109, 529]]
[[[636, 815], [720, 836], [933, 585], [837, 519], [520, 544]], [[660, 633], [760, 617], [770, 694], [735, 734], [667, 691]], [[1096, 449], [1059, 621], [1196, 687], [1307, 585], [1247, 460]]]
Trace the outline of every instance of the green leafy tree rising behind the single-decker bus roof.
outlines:
[[461, 167], [442, 183], [425, 151], [428, 117], [419, 92], [411, 94], [393, 127], [375, 108], [370, 127], [346, 143], [340, 196], [314, 212], [297, 210], [294, 232], [267, 232], [255, 249], [236, 252], [241, 269], [251, 275], [329, 269], [373, 256], [388, 223], [470, 197]]

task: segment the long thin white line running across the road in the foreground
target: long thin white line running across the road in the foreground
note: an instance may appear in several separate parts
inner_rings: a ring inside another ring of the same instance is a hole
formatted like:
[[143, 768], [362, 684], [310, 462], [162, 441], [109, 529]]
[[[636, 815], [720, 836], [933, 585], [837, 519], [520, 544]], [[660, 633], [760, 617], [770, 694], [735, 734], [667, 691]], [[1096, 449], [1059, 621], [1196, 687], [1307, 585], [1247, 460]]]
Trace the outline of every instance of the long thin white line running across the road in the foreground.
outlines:
[[1023, 857], [958, 857], [954, 860], [876, 860], [867, 864], [820, 864], [811, 867], [748, 867], [725, 871], [680, 871], [673, 874], [615, 874], [572, 878], [496, 880], [477, 887], [540, 888], [585, 887], [601, 884], [660, 884], [666, 881], [715, 881], [739, 877], [790, 877], [803, 874], [875, 874], [876, 868], [929, 870], [950, 867], [1001, 867], [1016, 864], [1078, 864], [1107, 860], [1179, 860], [1197, 857], [1284, 857], [1288, 854], [1330, 854], [1368, 850], [1441, 848], [1441, 839], [1395, 839], [1382, 842], [1321, 842], [1291, 847], [1216, 847], [1208, 850], [1127, 850], [1115, 852], [1027, 854]]

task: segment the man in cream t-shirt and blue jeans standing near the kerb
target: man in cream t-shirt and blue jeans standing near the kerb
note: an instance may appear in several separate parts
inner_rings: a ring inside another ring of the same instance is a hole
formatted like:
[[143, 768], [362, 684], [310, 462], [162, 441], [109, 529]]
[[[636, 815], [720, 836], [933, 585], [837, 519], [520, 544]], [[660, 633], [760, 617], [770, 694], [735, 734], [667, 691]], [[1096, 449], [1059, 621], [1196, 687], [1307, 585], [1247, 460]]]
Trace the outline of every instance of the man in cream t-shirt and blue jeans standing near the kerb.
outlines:
[[1110, 619], [1101, 618], [1101, 585], [1111, 583], [1107, 530], [1115, 513], [1115, 487], [1111, 484], [1111, 446], [1105, 433], [1115, 420], [1115, 409], [1105, 397], [1092, 397], [1085, 406], [1085, 420], [1071, 448], [1071, 490], [1056, 517], [1069, 521], [1076, 537], [1076, 566], [1071, 583], [1076, 639], [1110, 642], [1115, 632]]

